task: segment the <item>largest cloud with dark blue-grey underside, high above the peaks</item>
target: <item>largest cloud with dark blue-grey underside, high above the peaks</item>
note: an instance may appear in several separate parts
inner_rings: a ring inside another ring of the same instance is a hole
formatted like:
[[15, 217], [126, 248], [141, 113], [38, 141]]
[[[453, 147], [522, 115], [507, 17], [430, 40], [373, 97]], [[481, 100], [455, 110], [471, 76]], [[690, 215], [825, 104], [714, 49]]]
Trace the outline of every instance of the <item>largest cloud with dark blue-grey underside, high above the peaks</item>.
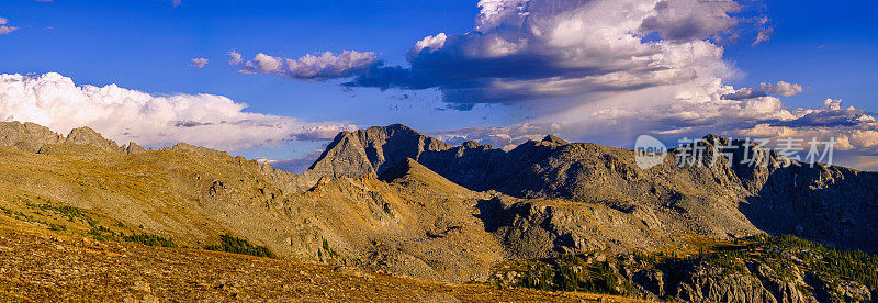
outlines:
[[[474, 31], [428, 36], [410, 68], [368, 70], [348, 86], [439, 88], [452, 103], [572, 103], [607, 92], [733, 74], [722, 36], [740, 21], [733, 1], [484, 0]], [[465, 108], [465, 106], [463, 106]]]

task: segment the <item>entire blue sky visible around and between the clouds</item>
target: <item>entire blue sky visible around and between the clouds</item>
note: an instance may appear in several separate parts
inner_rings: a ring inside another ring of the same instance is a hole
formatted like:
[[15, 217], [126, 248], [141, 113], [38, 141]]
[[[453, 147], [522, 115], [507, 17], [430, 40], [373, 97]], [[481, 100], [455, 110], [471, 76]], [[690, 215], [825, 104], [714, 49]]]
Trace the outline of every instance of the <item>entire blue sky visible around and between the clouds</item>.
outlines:
[[[72, 79], [76, 85], [102, 87], [115, 83], [154, 96], [224, 96], [236, 103], [248, 104], [247, 112], [290, 116], [315, 125], [339, 123], [361, 127], [404, 123], [428, 133], [469, 130], [441, 134], [448, 135], [447, 139], [451, 141], [472, 138], [495, 145], [498, 144], [492, 138], [506, 135], [502, 133], [509, 131], [509, 127], [515, 128], [522, 123], [547, 123], [553, 119], [569, 120], [571, 125], [579, 126], [575, 126], [576, 130], [566, 130], [564, 126], [554, 128], [569, 139], [624, 145], [624, 139], [608, 139], [601, 134], [579, 130], [586, 126], [576, 124], [578, 120], [572, 116], [587, 116], [583, 104], [590, 103], [593, 99], [624, 101], [637, 97], [624, 99], [579, 90], [575, 93], [534, 97], [530, 93], [532, 91], [515, 91], [514, 94], [502, 96], [521, 96], [521, 100], [475, 100], [485, 96], [485, 91], [498, 91], [492, 86], [480, 87], [476, 94], [468, 93], [465, 100], [461, 99], [463, 101], [449, 101], [449, 87], [457, 83], [437, 81], [429, 83], [431, 87], [427, 89], [405, 89], [410, 87], [409, 82], [389, 80], [391, 85], [386, 90], [359, 85], [346, 88], [340, 85], [348, 82], [351, 77], [301, 81], [289, 77], [237, 72], [241, 67], [227, 63], [228, 53], [233, 49], [243, 54], [246, 63], [254, 63], [252, 58], [258, 53], [295, 59], [318, 52], [357, 50], [374, 52], [382, 63], [378, 68], [398, 65], [407, 71], [417, 72], [417, 68], [408, 69], [412, 61], [406, 57], [413, 45], [439, 33], [451, 36], [474, 31], [482, 9], [476, 2], [182, 0], [179, 5], [173, 5], [170, 0], [5, 0], [0, 2], [0, 18], [8, 20], [8, 26], [18, 30], [0, 35], [0, 74], [58, 72]], [[723, 85], [739, 89], [757, 88], [761, 82], [786, 81], [804, 88], [803, 92], [780, 98], [783, 105], [790, 110], [820, 109], [823, 101], [831, 98], [842, 99], [844, 106], [878, 111], [874, 101], [874, 83], [878, 80], [878, 21], [873, 18], [878, 5], [871, 1], [747, 1], [741, 4], [748, 9], [741, 14], [742, 22], [735, 27], [753, 25], [750, 24], [753, 22], [744, 22], [746, 20], [767, 18], [773, 35], [758, 45], [752, 45], [754, 37], [746, 34], [742, 34], [736, 43], [717, 43], [717, 47], [724, 50], [722, 63], [735, 69], [735, 75], [721, 76]], [[534, 12], [542, 9], [537, 4], [531, 7]], [[574, 9], [571, 8], [571, 11]], [[543, 16], [551, 20], [556, 15], [545, 13]], [[660, 35], [667, 34], [656, 31]], [[699, 40], [707, 38], [687, 37], [687, 42]], [[461, 49], [469, 47], [464, 43], [461, 42]], [[446, 46], [449, 44], [451, 42]], [[448, 52], [450, 57], [457, 54]], [[540, 55], [522, 54], [525, 56], [521, 58], [526, 59], [527, 55]], [[190, 60], [198, 57], [210, 59], [210, 64], [204, 68], [189, 66]], [[439, 60], [438, 64], [442, 66], [450, 64], [426, 55], [418, 63], [429, 66], [434, 60]], [[484, 61], [470, 63], [477, 65]], [[534, 68], [522, 68], [520, 72], [540, 72], [539, 68], [542, 67]], [[453, 75], [455, 70], [443, 72]], [[525, 78], [521, 76], [516, 79]], [[624, 90], [626, 93], [629, 91], [631, 89]], [[463, 111], [450, 109], [461, 104], [473, 108]], [[776, 117], [761, 119], [772, 121]], [[691, 122], [674, 125], [687, 123]], [[713, 123], [705, 128], [695, 128], [695, 132], [719, 130], [728, 131], [731, 135], [739, 130], [717, 125], [729, 127], [736, 123]], [[646, 127], [631, 132], [658, 132], [658, 128], [666, 127], [661, 125], [654, 130]], [[544, 127], [537, 127], [525, 133], [536, 136], [545, 132]], [[516, 137], [514, 134], [511, 136]], [[325, 144], [319, 139], [281, 142], [238, 148], [234, 153], [248, 157], [286, 159], [302, 157]], [[860, 149], [860, 154], [869, 154], [871, 146], [864, 146], [866, 149]]]

